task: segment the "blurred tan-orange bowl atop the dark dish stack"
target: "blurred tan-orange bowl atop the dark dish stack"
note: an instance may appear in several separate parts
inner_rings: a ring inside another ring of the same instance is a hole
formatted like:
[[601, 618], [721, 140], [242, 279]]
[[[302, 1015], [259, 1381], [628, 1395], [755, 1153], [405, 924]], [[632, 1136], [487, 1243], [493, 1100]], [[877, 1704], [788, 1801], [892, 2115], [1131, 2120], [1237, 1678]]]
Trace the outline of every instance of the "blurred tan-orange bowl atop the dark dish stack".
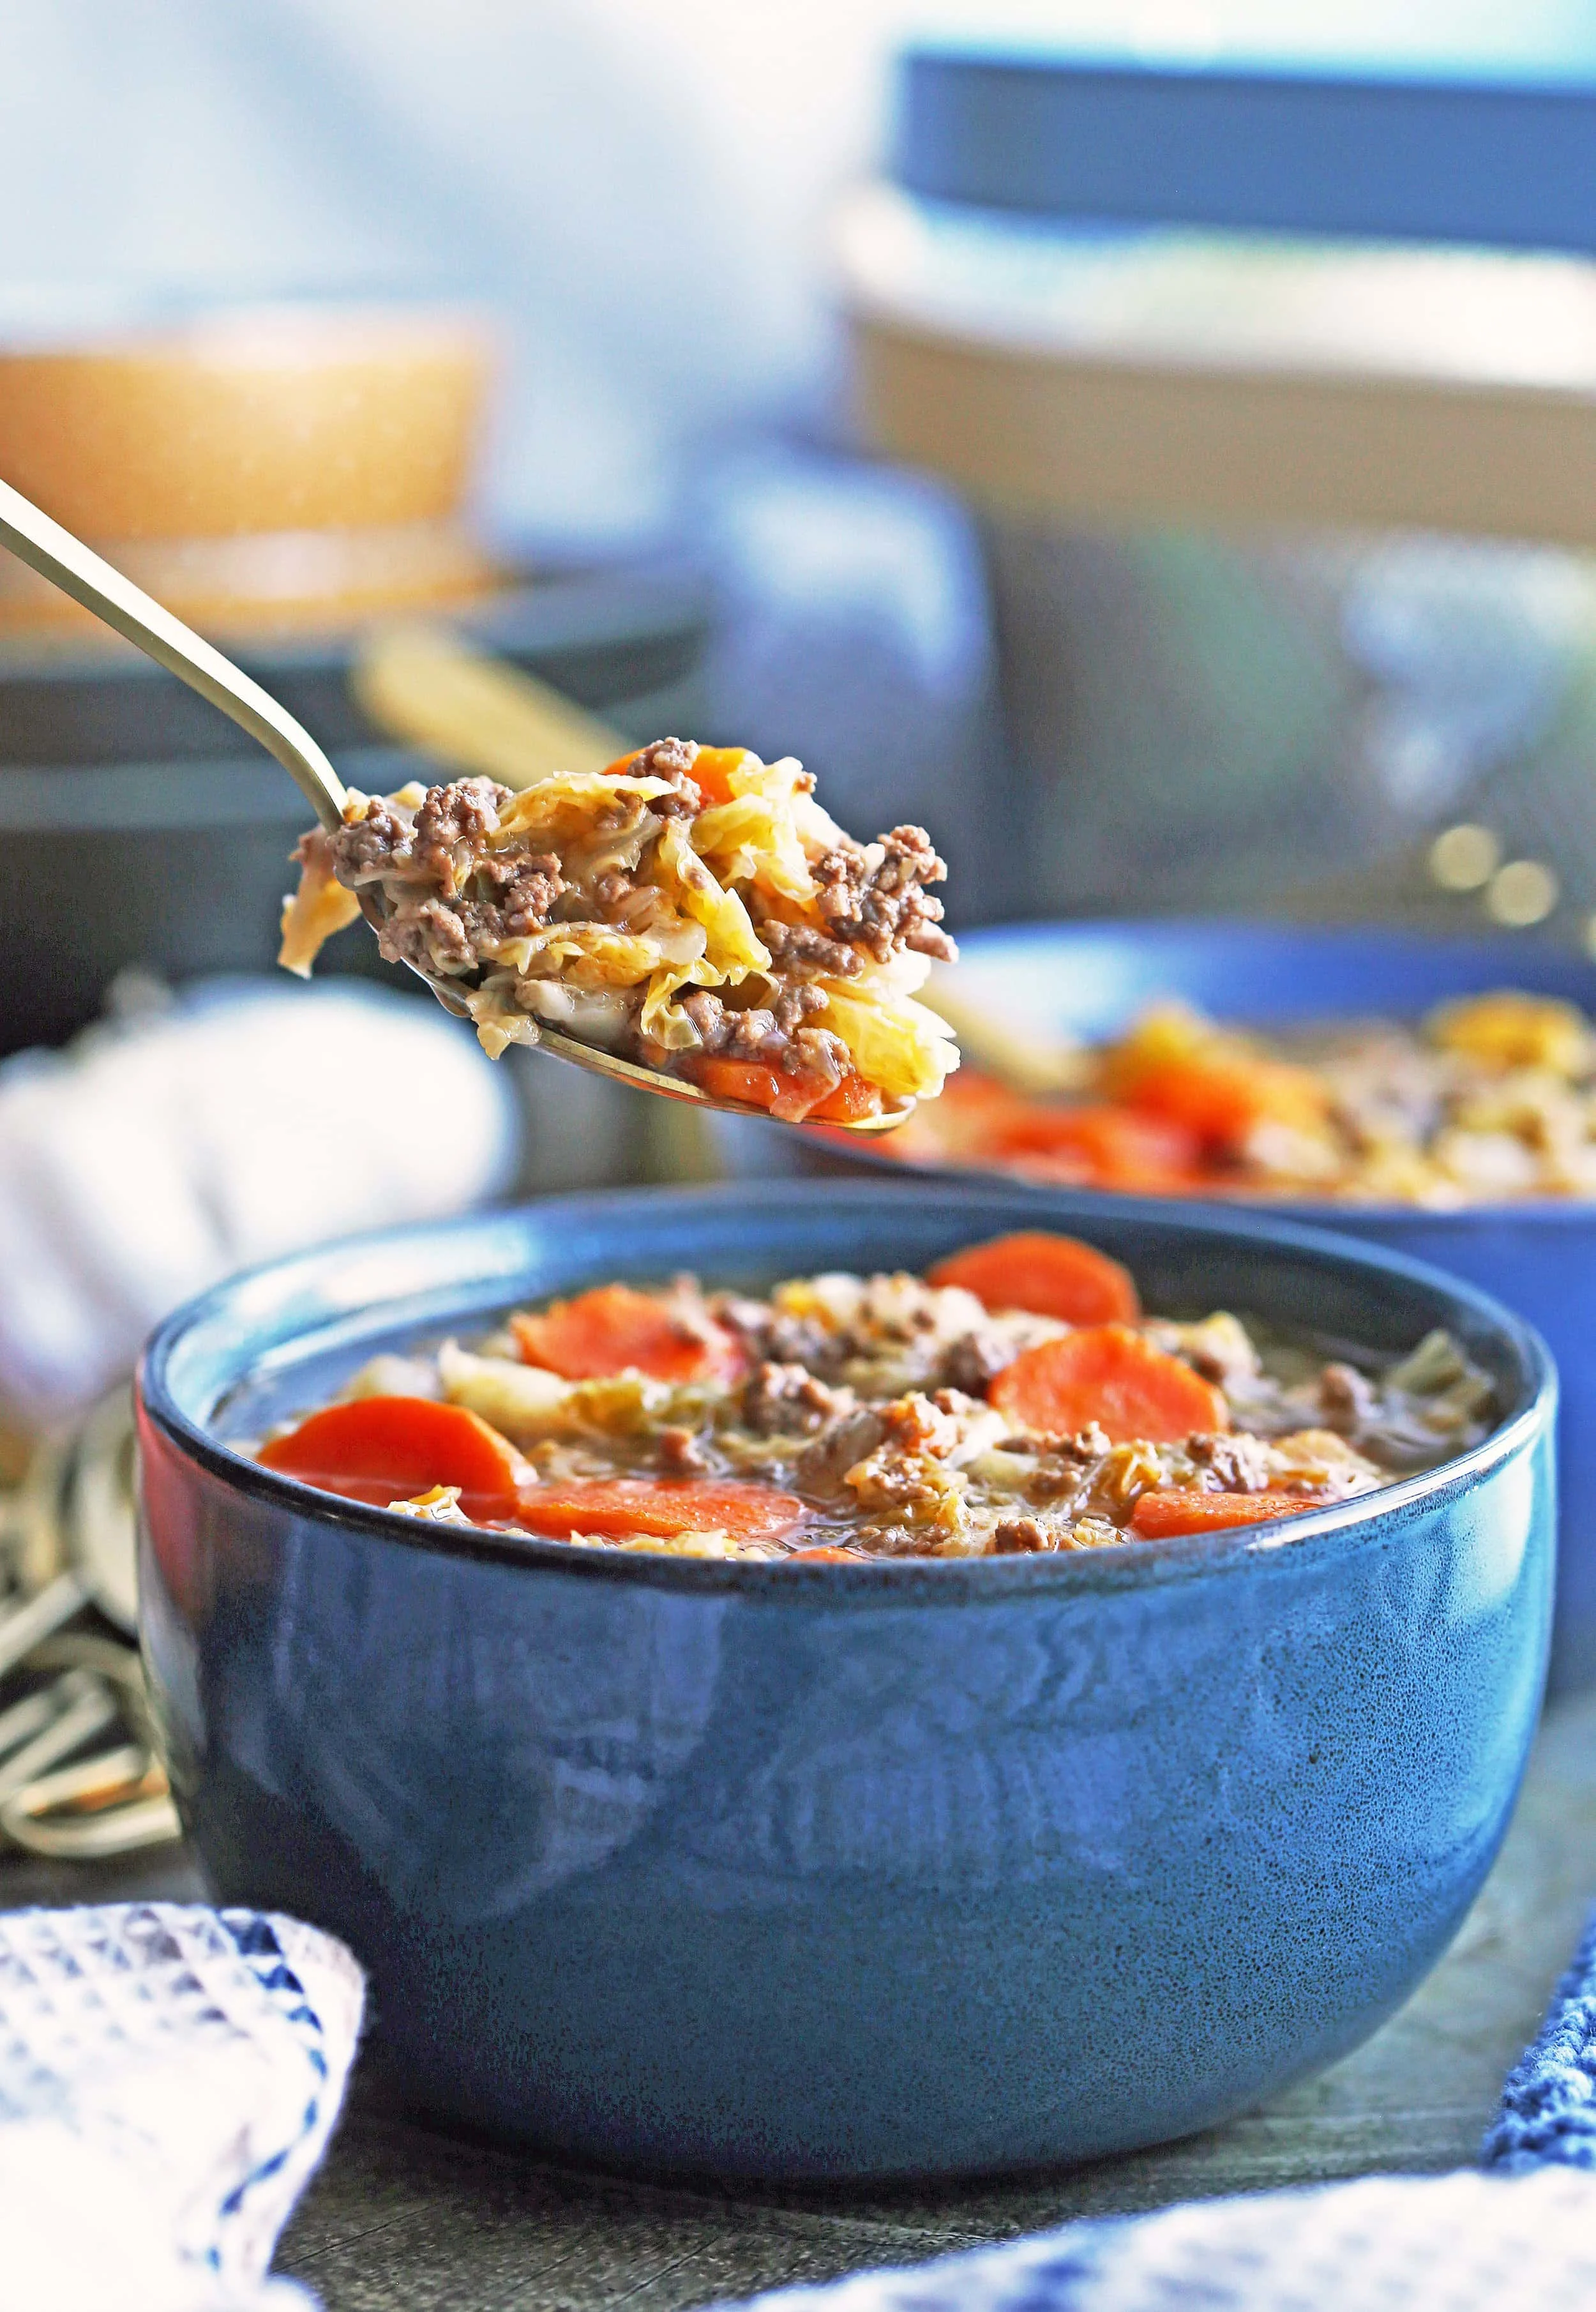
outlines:
[[[0, 476], [208, 631], [338, 627], [497, 583], [463, 516], [493, 347], [382, 307], [0, 344]], [[0, 631], [88, 613], [0, 557]]]

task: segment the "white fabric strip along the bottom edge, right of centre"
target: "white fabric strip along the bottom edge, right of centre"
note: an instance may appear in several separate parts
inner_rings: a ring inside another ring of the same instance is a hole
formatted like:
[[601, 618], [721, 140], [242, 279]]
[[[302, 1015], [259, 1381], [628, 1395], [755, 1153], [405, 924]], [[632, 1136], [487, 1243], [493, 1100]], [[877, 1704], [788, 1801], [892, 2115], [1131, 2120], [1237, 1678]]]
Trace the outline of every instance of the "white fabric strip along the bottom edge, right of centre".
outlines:
[[782, 2289], [759, 2312], [1584, 2312], [1596, 2178], [1402, 2178], [1212, 2199]]

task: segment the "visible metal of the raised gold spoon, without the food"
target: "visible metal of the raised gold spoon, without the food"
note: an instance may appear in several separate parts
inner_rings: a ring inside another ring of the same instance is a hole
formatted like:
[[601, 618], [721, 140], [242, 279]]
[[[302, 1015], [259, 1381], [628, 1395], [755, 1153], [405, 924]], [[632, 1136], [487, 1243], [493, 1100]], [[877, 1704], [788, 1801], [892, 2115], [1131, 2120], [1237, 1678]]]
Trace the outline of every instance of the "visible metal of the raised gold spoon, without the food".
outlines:
[[[162, 610], [141, 587], [123, 578], [120, 571], [113, 571], [81, 539], [74, 539], [69, 529], [53, 523], [49, 513], [39, 513], [30, 499], [12, 490], [5, 481], [0, 481], [0, 546], [9, 546], [19, 562], [49, 578], [62, 594], [93, 610], [95, 617], [143, 650], [157, 666], [164, 666], [167, 673], [187, 682], [213, 707], [220, 707], [222, 714], [236, 721], [241, 731], [247, 731], [252, 740], [259, 740], [282, 763], [324, 828], [333, 830], [342, 825], [345, 784], [303, 724], [287, 707], [280, 707], [259, 682], [250, 682], [231, 659], [224, 659], [220, 650], [204, 643], [180, 617]], [[382, 899], [375, 892], [363, 892], [361, 913], [370, 925], [379, 925], [384, 916]], [[426, 980], [446, 1010], [460, 1020], [470, 1017], [467, 1006], [446, 978], [423, 971], [421, 964], [412, 964], [409, 969]], [[537, 1043], [539, 1050], [553, 1052], [555, 1059], [569, 1059], [576, 1068], [592, 1068], [594, 1075], [608, 1075], [611, 1082], [631, 1084], [636, 1091], [655, 1091], [666, 1101], [692, 1101], [699, 1107], [715, 1107], [738, 1117], [766, 1114], [763, 1107], [749, 1107], [745, 1101], [710, 1098], [710, 1094], [678, 1075], [638, 1068], [634, 1061], [601, 1052], [597, 1045], [578, 1043], [576, 1036], [562, 1036], [557, 1029], [544, 1027], [541, 1020], [537, 1022]], [[888, 1133], [911, 1110], [914, 1101], [902, 1101], [879, 1117], [860, 1117], [854, 1124], [844, 1124], [842, 1131]]]

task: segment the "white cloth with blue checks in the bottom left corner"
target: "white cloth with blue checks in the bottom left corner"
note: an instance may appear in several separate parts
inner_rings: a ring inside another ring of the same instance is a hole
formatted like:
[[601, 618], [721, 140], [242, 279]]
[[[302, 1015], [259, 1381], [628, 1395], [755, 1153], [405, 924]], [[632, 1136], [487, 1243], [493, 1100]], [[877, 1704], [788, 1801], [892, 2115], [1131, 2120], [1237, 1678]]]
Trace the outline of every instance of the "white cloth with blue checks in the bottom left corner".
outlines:
[[287, 2312], [273, 2245], [338, 2118], [361, 1970], [296, 1919], [0, 1914], [5, 2312]]

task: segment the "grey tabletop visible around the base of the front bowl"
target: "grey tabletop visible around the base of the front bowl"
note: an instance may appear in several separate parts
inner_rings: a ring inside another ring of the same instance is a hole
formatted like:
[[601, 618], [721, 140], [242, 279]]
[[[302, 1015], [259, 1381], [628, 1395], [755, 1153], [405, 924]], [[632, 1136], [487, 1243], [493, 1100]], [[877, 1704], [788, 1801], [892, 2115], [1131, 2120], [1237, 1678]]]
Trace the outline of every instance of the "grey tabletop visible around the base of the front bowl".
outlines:
[[[0, 1866], [0, 1905], [197, 1891], [183, 1859]], [[405, 2118], [365, 2067], [275, 2268], [326, 2312], [678, 2312], [1076, 2215], [1466, 2164], [1594, 1896], [1596, 1697], [1547, 1716], [1501, 1861], [1429, 1981], [1355, 2055], [1231, 2127], [1011, 2183], [673, 2189], [439, 2134]]]

